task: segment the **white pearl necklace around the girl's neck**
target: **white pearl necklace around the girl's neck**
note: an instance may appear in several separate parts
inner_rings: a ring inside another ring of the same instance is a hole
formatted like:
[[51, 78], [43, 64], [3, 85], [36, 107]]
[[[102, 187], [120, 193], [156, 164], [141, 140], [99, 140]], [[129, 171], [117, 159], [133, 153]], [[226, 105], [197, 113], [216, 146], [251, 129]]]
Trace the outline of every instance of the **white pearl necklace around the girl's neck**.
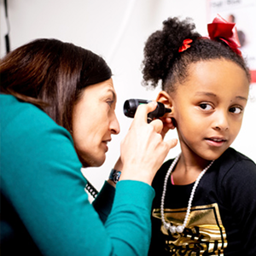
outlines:
[[182, 233], [188, 220], [189, 220], [189, 214], [190, 214], [190, 209], [191, 209], [191, 205], [192, 205], [192, 201], [193, 201], [193, 198], [194, 198], [194, 195], [195, 195], [195, 189], [198, 185], [198, 183], [200, 182], [201, 180], [201, 177], [207, 172], [207, 170], [212, 166], [213, 164], [213, 161], [210, 163], [209, 166], [207, 166], [200, 174], [199, 176], [196, 178], [196, 181], [195, 181], [195, 184], [191, 190], [191, 194], [190, 194], [190, 197], [189, 197], [189, 203], [188, 203], [188, 208], [187, 208], [187, 212], [186, 212], [186, 215], [185, 215], [185, 219], [184, 219], [184, 222], [182, 225], [178, 225], [178, 226], [174, 226], [174, 225], [171, 225], [170, 223], [166, 223], [166, 220], [165, 220], [165, 215], [164, 215], [164, 204], [165, 204], [165, 196], [166, 196], [166, 186], [167, 186], [167, 181], [168, 181], [168, 178], [169, 176], [171, 175], [172, 173], [172, 170], [174, 168], [174, 166], [177, 164], [177, 160], [179, 159], [179, 156], [180, 154], [177, 155], [176, 159], [173, 160], [172, 162], [172, 165], [170, 166], [168, 172], [166, 173], [166, 178], [165, 178], [165, 181], [164, 181], [164, 188], [163, 188], [163, 194], [162, 194], [162, 197], [161, 197], [161, 205], [160, 205], [160, 213], [161, 213], [161, 219], [162, 219], [162, 223], [164, 224], [164, 227], [166, 230], [170, 230], [172, 234], [174, 233]]

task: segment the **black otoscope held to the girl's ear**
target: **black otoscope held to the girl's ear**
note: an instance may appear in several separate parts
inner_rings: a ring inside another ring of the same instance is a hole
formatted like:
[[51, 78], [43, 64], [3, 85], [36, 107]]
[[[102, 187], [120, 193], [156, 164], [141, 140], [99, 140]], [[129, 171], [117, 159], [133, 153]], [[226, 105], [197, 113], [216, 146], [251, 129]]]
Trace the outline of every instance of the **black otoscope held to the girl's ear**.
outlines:
[[[139, 100], [139, 99], [130, 99], [126, 100], [124, 104], [124, 113], [125, 116], [134, 118], [137, 107], [141, 104], [148, 104], [151, 101], [148, 100]], [[157, 102], [157, 107], [153, 112], [148, 113], [148, 123], [150, 123], [153, 119], [160, 118], [165, 113], [171, 113], [171, 108], [166, 108], [165, 105], [161, 102]]]

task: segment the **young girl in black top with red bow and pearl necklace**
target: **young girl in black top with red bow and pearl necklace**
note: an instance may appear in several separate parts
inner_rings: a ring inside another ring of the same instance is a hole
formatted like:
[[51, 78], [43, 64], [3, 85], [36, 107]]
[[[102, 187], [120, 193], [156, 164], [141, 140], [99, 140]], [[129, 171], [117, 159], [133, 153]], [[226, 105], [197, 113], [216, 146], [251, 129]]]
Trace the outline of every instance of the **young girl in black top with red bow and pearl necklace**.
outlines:
[[149, 255], [256, 255], [256, 166], [230, 148], [250, 74], [235, 24], [218, 16], [208, 31], [172, 18], [145, 45], [145, 84], [161, 82], [181, 146], [154, 177]]

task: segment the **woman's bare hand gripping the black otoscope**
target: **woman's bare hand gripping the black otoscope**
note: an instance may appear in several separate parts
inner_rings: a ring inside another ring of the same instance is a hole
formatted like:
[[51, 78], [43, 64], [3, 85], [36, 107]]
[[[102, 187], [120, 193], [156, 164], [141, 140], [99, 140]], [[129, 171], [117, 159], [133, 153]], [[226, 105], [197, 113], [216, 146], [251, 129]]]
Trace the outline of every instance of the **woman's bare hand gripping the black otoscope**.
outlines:
[[120, 180], [132, 179], [151, 184], [169, 150], [177, 145], [177, 139], [163, 141], [162, 135], [165, 136], [166, 131], [163, 131], [160, 119], [147, 123], [148, 113], [156, 106], [156, 102], [150, 102], [137, 108], [130, 130], [121, 143], [123, 168]]

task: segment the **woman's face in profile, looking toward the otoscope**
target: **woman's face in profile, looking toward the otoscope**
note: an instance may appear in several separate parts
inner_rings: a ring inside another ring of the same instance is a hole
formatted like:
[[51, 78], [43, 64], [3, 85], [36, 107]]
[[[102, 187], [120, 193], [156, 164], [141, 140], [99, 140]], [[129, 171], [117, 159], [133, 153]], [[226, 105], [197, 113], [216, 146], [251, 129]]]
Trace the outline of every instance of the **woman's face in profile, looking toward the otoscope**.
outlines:
[[112, 134], [119, 133], [113, 80], [86, 87], [73, 108], [73, 141], [83, 166], [101, 166]]

